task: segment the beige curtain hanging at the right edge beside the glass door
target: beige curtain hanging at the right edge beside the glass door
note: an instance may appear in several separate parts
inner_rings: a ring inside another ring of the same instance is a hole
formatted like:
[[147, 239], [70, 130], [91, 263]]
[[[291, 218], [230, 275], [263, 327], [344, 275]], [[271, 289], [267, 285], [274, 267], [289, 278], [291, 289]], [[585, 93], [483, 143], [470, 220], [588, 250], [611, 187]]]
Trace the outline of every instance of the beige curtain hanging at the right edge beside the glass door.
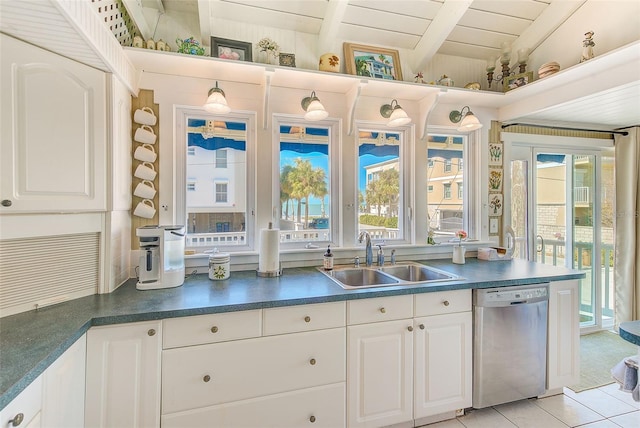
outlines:
[[640, 319], [640, 127], [615, 136], [616, 328]]

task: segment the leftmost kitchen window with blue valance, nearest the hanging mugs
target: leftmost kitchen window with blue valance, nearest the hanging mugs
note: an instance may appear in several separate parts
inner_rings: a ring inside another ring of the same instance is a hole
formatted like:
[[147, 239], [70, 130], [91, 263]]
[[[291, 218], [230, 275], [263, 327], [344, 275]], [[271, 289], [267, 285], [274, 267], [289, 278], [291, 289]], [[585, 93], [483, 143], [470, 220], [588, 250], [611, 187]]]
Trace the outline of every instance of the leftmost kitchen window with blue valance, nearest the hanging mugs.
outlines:
[[[253, 246], [255, 116], [177, 109], [176, 214], [186, 247], [246, 251]], [[188, 178], [187, 178], [188, 177]], [[196, 185], [197, 183], [197, 185]]]

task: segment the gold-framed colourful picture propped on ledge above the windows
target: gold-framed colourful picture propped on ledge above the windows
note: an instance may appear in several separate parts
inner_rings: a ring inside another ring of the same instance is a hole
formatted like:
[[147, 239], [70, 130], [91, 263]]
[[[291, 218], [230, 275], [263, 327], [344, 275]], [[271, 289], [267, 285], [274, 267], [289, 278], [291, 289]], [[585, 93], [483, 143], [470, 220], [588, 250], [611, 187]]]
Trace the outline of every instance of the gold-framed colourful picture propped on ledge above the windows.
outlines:
[[347, 73], [376, 79], [402, 80], [400, 54], [395, 49], [344, 44]]

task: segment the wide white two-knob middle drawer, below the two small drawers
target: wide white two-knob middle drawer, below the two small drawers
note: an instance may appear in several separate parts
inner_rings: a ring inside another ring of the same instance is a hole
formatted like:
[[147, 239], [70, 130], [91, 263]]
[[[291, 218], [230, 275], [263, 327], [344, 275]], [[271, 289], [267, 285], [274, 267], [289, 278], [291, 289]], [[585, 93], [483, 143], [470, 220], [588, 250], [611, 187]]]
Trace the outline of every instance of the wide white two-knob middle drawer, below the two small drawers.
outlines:
[[345, 380], [344, 328], [169, 349], [163, 414]]

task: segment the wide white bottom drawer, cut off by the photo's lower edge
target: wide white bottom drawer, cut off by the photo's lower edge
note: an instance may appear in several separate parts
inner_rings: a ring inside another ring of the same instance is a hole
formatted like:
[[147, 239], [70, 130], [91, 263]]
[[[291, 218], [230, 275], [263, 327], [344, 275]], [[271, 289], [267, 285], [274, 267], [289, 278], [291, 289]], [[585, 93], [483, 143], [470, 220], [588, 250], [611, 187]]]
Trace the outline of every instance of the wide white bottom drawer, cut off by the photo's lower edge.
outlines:
[[162, 417], [163, 428], [345, 426], [345, 384], [338, 383]]

